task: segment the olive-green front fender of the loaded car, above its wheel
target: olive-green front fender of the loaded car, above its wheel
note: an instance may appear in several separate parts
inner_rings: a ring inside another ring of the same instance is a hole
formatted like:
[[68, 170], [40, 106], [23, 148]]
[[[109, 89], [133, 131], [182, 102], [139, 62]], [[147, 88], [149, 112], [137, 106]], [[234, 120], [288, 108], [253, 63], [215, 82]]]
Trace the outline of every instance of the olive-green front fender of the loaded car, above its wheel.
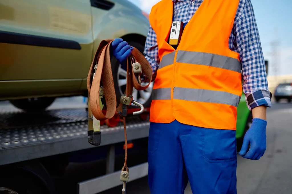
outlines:
[[[115, 0], [112, 2], [115, 5], [110, 11], [100, 10], [95, 7], [91, 8], [94, 38], [93, 57], [102, 40], [123, 38], [123, 36], [133, 34], [140, 35], [141, 37], [147, 36], [150, 23], [138, 7], [126, 0]], [[80, 92], [87, 90], [87, 74], [82, 81]]]

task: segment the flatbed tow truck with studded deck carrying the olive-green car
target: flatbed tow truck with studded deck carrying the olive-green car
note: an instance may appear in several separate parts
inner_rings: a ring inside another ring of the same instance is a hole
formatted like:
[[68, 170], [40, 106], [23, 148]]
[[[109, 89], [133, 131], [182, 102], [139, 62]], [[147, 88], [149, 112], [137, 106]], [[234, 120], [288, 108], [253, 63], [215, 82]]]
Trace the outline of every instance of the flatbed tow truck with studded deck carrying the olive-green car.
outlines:
[[[126, 124], [133, 181], [148, 174], [150, 122], [144, 115]], [[102, 125], [100, 146], [88, 143], [87, 130], [85, 109], [0, 113], [0, 193], [95, 194], [121, 185], [123, 127]]]

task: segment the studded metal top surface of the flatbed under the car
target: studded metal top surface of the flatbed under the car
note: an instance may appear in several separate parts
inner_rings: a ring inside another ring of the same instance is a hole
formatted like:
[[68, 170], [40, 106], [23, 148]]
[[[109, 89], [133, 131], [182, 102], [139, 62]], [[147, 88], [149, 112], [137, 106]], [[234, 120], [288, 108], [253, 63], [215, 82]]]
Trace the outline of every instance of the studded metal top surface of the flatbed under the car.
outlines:
[[[62, 141], [87, 137], [88, 112], [84, 109], [52, 110], [44, 113], [5, 113], [0, 115], [0, 150], [16, 146]], [[128, 129], [147, 126], [148, 121], [129, 117]], [[100, 126], [102, 133], [124, 130], [117, 127]]]

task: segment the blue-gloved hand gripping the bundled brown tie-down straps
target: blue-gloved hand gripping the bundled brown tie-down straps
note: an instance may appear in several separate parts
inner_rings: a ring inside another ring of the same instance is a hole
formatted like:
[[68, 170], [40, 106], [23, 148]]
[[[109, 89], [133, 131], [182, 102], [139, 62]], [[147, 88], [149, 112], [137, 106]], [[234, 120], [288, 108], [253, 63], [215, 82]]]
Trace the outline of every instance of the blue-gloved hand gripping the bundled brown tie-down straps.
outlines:
[[127, 58], [131, 55], [133, 49], [123, 39], [114, 39], [112, 41], [111, 52], [124, 70], [127, 70]]

